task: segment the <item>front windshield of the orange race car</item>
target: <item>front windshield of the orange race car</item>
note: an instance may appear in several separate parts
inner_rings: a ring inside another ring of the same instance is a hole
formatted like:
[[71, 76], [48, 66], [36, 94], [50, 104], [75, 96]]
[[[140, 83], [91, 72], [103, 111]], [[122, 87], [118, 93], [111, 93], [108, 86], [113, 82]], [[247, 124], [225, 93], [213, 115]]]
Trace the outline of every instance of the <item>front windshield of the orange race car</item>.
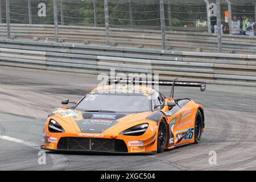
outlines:
[[76, 106], [81, 111], [139, 113], [151, 111], [151, 100], [143, 94], [88, 94]]

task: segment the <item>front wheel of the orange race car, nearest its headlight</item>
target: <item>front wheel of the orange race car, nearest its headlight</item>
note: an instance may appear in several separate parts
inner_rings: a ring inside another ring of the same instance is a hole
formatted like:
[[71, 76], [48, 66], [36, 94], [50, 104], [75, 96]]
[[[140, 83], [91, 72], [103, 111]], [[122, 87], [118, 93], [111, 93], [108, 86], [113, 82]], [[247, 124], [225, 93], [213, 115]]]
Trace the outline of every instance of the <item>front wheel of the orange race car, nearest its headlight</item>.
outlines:
[[166, 122], [162, 119], [158, 127], [158, 153], [163, 152], [167, 142], [167, 127]]

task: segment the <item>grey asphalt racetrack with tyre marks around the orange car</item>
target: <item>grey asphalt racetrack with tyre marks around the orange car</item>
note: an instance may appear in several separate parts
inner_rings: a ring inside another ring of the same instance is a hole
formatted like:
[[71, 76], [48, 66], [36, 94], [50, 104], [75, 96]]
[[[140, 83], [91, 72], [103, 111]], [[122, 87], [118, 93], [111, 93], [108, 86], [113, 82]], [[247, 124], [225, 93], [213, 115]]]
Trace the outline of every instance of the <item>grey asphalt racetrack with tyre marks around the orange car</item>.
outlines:
[[[256, 88], [207, 85], [176, 88], [205, 106], [206, 131], [199, 144], [157, 155], [55, 154], [38, 163], [47, 113], [60, 101], [80, 98], [97, 86], [97, 76], [0, 67], [0, 170], [224, 170], [256, 169]], [[160, 92], [170, 94], [170, 88]], [[217, 164], [209, 164], [209, 152]]]

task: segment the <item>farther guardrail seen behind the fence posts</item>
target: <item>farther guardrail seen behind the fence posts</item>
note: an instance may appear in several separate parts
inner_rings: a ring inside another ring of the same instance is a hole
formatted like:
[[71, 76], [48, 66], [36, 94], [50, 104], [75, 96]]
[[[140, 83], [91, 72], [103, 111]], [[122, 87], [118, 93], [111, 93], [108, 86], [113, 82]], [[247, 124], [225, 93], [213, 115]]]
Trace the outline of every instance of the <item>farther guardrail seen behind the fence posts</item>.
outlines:
[[[0, 36], [6, 38], [6, 24], [0, 24]], [[63, 43], [104, 46], [105, 36], [105, 27], [59, 26], [59, 39]], [[55, 42], [55, 30], [53, 25], [46, 24], [11, 24], [11, 38]], [[110, 28], [110, 46], [161, 49], [162, 36], [160, 30]], [[174, 51], [217, 52], [217, 36], [208, 32], [166, 31], [166, 48]], [[224, 35], [222, 52], [255, 54], [256, 36]]]

